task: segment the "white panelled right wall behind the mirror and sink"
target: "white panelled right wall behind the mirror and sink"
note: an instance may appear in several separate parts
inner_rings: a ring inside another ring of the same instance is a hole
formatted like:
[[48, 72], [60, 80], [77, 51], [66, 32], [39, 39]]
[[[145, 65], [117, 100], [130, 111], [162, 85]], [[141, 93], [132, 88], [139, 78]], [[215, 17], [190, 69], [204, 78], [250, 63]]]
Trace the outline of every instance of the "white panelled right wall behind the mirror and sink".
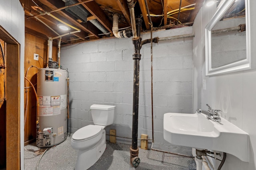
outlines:
[[[251, 16], [256, 16], [255, 1], [251, 1]], [[219, 76], [205, 76], [205, 37], [204, 28], [213, 16], [216, 8], [205, 8], [198, 13], [193, 25], [196, 37], [193, 40], [193, 110], [207, 109], [206, 104], [213, 108], [222, 109], [222, 117], [246, 131], [250, 135], [250, 162], [243, 162], [233, 155], [227, 154], [224, 170], [255, 170], [256, 169], [256, 130], [255, 130], [255, 102], [256, 102], [256, 70], [241, 71]], [[251, 18], [251, 25], [256, 24]], [[255, 38], [255, 33], [251, 36]], [[254, 48], [255, 44], [251, 44]], [[255, 48], [254, 48], [255, 49]], [[252, 57], [255, 57], [252, 56]], [[202, 88], [202, 80], [206, 80], [206, 90]], [[227, 141], [232, 143], [232, 141]], [[221, 144], [220, 144], [221, 145]], [[220, 161], [213, 160], [217, 169]]]

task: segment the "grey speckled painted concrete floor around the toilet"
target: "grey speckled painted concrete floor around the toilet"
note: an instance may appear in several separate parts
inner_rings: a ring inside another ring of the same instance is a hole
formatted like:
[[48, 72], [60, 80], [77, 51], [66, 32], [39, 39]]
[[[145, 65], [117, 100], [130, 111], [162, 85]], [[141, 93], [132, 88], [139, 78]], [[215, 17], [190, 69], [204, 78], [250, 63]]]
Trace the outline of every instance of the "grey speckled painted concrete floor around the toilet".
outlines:
[[[72, 133], [68, 133], [66, 141], [49, 147], [43, 156], [45, 148], [36, 147], [36, 143], [25, 146], [25, 170], [74, 170], [78, 151], [72, 149], [71, 137]], [[130, 145], [106, 144], [105, 152], [89, 170], [135, 170], [130, 166]], [[184, 156], [140, 149], [139, 158], [136, 170], [196, 170], [194, 159]]]

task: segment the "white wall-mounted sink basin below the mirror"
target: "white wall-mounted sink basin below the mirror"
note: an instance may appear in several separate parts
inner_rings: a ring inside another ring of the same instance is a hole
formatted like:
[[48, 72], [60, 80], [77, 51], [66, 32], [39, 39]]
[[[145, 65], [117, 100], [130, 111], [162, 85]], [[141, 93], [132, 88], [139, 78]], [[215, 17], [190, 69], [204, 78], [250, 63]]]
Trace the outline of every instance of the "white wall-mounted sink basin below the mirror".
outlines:
[[226, 152], [249, 162], [248, 133], [222, 117], [215, 122], [199, 113], [165, 113], [164, 139], [174, 145]]

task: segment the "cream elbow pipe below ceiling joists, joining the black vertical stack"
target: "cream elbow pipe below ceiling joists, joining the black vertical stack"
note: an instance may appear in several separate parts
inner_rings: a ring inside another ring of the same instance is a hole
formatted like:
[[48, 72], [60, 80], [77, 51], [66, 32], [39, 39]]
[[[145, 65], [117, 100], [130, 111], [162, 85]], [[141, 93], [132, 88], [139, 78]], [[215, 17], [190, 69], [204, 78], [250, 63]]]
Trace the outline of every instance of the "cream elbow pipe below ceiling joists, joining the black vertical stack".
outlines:
[[119, 31], [118, 32], [118, 19], [119, 19], [119, 14], [115, 13], [113, 15], [113, 27], [112, 27], [112, 31], [115, 37], [117, 38], [129, 38], [132, 37], [132, 29], [131, 28], [127, 28], [123, 31]]

